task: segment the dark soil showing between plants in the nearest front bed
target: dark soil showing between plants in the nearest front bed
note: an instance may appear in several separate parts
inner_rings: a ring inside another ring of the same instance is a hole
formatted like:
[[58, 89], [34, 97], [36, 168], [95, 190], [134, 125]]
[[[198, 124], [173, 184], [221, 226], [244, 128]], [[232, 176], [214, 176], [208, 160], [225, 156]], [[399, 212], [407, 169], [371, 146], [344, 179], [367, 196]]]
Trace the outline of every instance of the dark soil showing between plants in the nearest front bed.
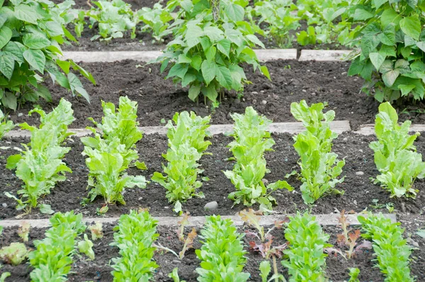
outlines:
[[[424, 216], [420, 217], [409, 217], [401, 216], [400, 221], [402, 221], [402, 226], [407, 228], [405, 233], [406, 237], [412, 235], [412, 239], [409, 239], [409, 244], [416, 243], [418, 248], [414, 249], [414, 252], [411, 256], [412, 261], [410, 264], [410, 269], [412, 271], [412, 276], [416, 276], [417, 281], [424, 281], [425, 273], [425, 239], [415, 235], [416, 230], [424, 227], [425, 218]], [[420, 225], [420, 226], [419, 226]], [[100, 240], [94, 241], [94, 252], [96, 254], [96, 259], [94, 261], [86, 260], [85, 256], [74, 256], [74, 264], [72, 265], [72, 273], [69, 273], [69, 281], [113, 281], [111, 276], [112, 268], [109, 266], [109, 263], [113, 257], [119, 256], [118, 248], [111, 247], [109, 244], [113, 242], [113, 224], [103, 225], [104, 237]], [[164, 247], [173, 249], [175, 252], [179, 252], [183, 248], [183, 243], [179, 241], [176, 237], [175, 232], [176, 227], [164, 227], [159, 226], [157, 228], [159, 233], [159, 239], [157, 244], [162, 244]], [[1, 237], [0, 247], [6, 246], [11, 242], [20, 242], [21, 239], [16, 233], [17, 228], [6, 228]], [[249, 229], [249, 227], [239, 227], [239, 232], [244, 232], [245, 230], [255, 231]], [[267, 230], [267, 228], [266, 228]], [[186, 234], [189, 230], [186, 229]], [[198, 233], [200, 229], [198, 228]], [[329, 243], [336, 244], [336, 235], [341, 233], [340, 227], [336, 226], [327, 226], [324, 227], [324, 231], [330, 235]], [[30, 230], [30, 240], [27, 243], [28, 247], [34, 249], [33, 240], [44, 238], [45, 229], [31, 229]], [[274, 230], [271, 233], [274, 237], [273, 246], [278, 246], [280, 244], [285, 244], [285, 237], [283, 230]], [[244, 268], [244, 271], [251, 273], [251, 279], [249, 281], [261, 281], [259, 277], [259, 264], [263, 260], [259, 253], [253, 252], [249, 249], [249, 241], [252, 240], [252, 237], [244, 237], [244, 244], [246, 249], [247, 262]], [[198, 238], [196, 238], [193, 247], [199, 249], [201, 246]], [[344, 250], [344, 249], [343, 249]], [[284, 259], [284, 258], [283, 258]], [[334, 256], [333, 254], [329, 255], [327, 258], [327, 276], [331, 281], [347, 281], [348, 280], [348, 269], [351, 267], [357, 267], [361, 270], [361, 275], [359, 276], [360, 281], [383, 281], [383, 277], [379, 269], [375, 268], [375, 262], [373, 261], [373, 251], [364, 250], [363, 252], [357, 254], [351, 260], [346, 260], [342, 256]], [[159, 268], [156, 271], [154, 281], [172, 281], [171, 278], [168, 278], [168, 273], [170, 273], [175, 267], [179, 267], [179, 276], [181, 279], [186, 281], [196, 281], [197, 273], [196, 268], [199, 267], [199, 260], [195, 254], [194, 249], [189, 249], [186, 252], [186, 256], [183, 259], [177, 259], [171, 253], [162, 253], [157, 252], [154, 255], [154, 260], [159, 265]], [[288, 273], [283, 269], [283, 266], [280, 264], [278, 259], [278, 270], [280, 273], [285, 275], [285, 278], [288, 278]], [[30, 281], [29, 273], [32, 271], [32, 268], [29, 264], [23, 264], [20, 266], [4, 266], [1, 271], [11, 272], [11, 276], [7, 281]]]

